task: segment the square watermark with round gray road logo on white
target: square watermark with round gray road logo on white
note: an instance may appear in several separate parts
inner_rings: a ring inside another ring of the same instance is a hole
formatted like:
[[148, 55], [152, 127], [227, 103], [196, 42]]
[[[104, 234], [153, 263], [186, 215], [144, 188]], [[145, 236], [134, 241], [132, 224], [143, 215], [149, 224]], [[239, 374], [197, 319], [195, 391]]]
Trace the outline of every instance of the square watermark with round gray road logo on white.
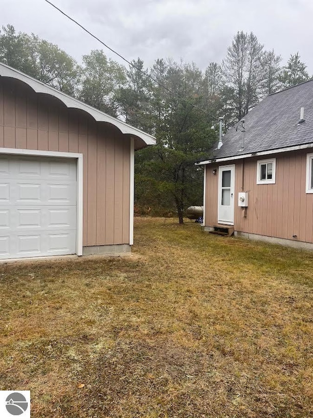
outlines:
[[0, 417], [30, 417], [30, 391], [0, 391]]

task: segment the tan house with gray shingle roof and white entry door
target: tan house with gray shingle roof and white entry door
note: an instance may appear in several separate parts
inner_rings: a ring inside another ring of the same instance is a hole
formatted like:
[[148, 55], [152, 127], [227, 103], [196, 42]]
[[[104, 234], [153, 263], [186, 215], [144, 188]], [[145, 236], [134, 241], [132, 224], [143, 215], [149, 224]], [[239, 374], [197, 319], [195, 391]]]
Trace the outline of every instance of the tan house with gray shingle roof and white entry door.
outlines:
[[313, 249], [313, 80], [270, 94], [204, 165], [204, 230]]

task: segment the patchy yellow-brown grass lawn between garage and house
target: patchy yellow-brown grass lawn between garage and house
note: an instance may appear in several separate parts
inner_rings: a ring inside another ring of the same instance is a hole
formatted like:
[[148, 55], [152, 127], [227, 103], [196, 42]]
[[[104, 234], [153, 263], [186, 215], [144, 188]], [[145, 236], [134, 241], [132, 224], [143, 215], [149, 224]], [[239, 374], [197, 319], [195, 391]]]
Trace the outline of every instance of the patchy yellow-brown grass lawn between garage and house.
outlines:
[[32, 417], [313, 417], [313, 253], [135, 219], [133, 255], [0, 264]]

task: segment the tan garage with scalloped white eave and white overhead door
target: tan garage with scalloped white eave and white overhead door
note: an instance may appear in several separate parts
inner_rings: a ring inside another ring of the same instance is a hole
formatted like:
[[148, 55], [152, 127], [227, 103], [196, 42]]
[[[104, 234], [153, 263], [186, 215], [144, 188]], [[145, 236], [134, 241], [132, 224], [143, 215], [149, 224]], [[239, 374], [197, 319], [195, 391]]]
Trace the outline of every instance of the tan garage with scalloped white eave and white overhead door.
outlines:
[[134, 151], [154, 143], [0, 64], [0, 258], [129, 252]]

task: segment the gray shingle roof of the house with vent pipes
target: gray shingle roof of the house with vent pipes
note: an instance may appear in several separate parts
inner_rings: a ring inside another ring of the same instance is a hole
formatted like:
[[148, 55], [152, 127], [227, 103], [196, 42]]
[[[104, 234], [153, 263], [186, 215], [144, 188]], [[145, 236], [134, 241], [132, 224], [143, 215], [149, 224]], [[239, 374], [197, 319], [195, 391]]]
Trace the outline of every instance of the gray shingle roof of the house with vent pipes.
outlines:
[[[304, 107], [305, 122], [300, 120]], [[210, 158], [225, 158], [313, 142], [313, 80], [267, 96], [245, 119], [245, 146], [241, 123], [223, 137], [223, 146], [212, 148]]]

